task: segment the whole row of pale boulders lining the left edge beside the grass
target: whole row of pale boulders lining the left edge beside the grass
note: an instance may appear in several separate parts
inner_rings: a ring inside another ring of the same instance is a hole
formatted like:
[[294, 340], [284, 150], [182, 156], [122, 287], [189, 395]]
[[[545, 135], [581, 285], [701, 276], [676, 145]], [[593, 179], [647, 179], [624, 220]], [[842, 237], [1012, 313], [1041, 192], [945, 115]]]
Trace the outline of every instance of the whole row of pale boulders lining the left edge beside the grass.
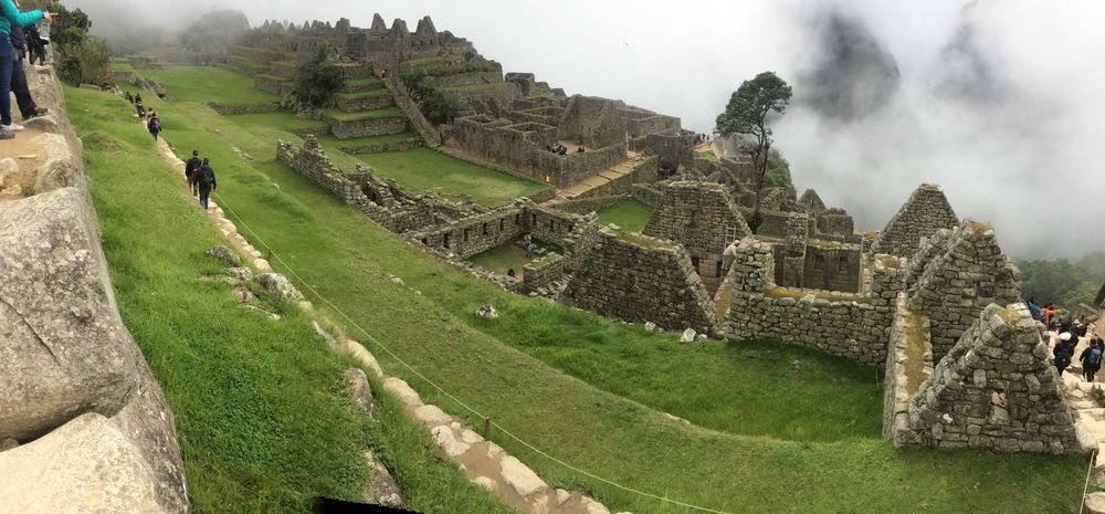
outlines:
[[[118, 314], [81, 140], [50, 67], [36, 195], [0, 199], [0, 513], [187, 513], [173, 416]], [[24, 133], [25, 134], [25, 133]]]

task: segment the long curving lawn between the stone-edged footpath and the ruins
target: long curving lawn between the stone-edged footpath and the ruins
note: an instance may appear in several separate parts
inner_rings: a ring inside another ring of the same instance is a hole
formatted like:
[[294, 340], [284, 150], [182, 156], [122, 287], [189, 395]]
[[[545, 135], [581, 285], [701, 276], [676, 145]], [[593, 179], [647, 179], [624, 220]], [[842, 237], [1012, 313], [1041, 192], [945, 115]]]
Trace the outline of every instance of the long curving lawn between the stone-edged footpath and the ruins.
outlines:
[[[509, 295], [418, 251], [286, 166], [248, 162], [232, 149], [273, 141], [202, 113], [202, 105], [164, 108], [179, 118], [165, 135], [181, 154], [199, 147], [221, 164], [219, 195], [239, 227], [255, 232], [243, 230], [254, 245], [264, 248], [264, 240], [436, 384], [573, 465], [728, 512], [1077, 510], [1085, 473], [1078, 459], [895, 451], [880, 434], [873, 368], [768, 343], [682, 345], [674, 334]], [[484, 303], [495, 305], [498, 319], [474, 315]], [[369, 348], [428, 401], [464, 413]], [[803, 371], [793, 370], [796, 359]], [[615, 512], [692, 512], [561, 468], [503, 433], [493, 439], [550, 484], [587, 490]]]

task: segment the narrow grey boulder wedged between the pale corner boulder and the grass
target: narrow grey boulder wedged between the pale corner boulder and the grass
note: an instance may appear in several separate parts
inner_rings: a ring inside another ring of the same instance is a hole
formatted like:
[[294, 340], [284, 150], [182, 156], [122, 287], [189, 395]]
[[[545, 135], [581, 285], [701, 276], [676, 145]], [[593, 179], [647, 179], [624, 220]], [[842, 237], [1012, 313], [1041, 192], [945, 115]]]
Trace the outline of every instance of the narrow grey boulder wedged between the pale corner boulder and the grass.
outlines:
[[138, 388], [112, 422], [134, 443], [154, 473], [157, 503], [167, 512], [188, 512], [176, 419], [145, 359], [138, 359]]

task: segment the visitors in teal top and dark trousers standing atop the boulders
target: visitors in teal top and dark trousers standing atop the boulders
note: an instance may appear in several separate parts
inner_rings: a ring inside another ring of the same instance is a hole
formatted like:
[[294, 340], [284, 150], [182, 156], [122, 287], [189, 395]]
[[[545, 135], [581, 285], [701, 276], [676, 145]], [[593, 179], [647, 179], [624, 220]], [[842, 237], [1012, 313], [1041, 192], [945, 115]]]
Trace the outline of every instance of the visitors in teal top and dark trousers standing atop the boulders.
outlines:
[[0, 0], [0, 139], [14, 139], [15, 132], [23, 126], [11, 118], [11, 94], [23, 120], [42, 116], [49, 111], [39, 107], [28, 88], [23, 60], [27, 53], [33, 62], [36, 57], [45, 62], [44, 39], [38, 23], [45, 20], [53, 23], [53, 14], [42, 11], [20, 12], [18, 0]]

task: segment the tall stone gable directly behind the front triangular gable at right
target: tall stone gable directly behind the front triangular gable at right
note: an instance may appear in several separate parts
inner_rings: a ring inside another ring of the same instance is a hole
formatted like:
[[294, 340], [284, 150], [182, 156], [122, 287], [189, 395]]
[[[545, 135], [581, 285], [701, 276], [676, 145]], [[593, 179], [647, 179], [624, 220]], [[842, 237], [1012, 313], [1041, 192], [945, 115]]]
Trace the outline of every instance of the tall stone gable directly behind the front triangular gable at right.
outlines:
[[986, 223], [967, 220], [937, 253], [908, 294], [909, 308], [932, 319], [933, 356], [939, 363], [982, 308], [1019, 302], [1021, 290], [1017, 268]]

